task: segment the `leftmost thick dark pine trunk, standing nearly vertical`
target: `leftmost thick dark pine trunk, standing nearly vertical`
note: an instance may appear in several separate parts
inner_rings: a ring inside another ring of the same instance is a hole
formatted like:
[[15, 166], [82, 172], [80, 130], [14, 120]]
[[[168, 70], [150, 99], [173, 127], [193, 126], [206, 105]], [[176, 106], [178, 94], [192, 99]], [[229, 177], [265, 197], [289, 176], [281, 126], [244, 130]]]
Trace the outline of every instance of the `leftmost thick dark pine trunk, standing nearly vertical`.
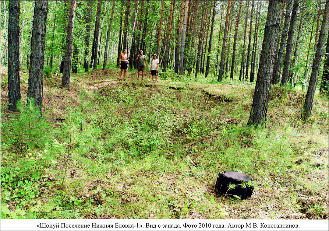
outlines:
[[8, 110], [17, 111], [17, 102], [21, 97], [19, 81], [19, 1], [9, 1], [8, 8]]

